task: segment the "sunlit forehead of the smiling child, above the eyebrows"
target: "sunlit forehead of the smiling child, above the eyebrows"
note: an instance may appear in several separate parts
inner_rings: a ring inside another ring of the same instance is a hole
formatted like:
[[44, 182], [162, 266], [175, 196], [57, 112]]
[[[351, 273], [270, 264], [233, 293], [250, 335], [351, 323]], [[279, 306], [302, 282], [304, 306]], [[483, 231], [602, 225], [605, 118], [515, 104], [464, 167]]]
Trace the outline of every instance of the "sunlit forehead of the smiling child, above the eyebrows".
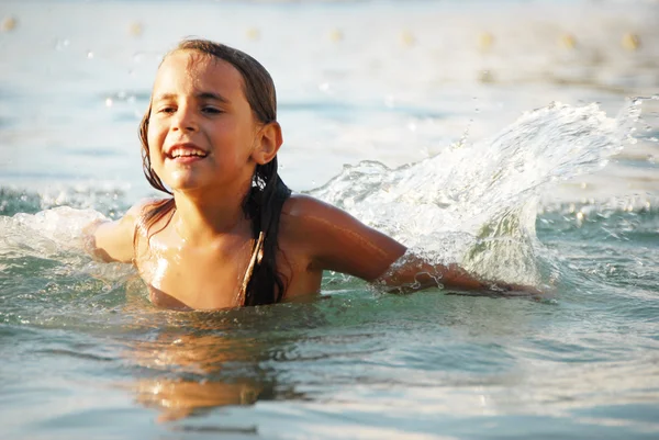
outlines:
[[196, 50], [169, 54], [158, 68], [154, 83], [157, 93], [215, 91], [226, 98], [244, 97], [243, 88], [243, 76], [234, 66]]

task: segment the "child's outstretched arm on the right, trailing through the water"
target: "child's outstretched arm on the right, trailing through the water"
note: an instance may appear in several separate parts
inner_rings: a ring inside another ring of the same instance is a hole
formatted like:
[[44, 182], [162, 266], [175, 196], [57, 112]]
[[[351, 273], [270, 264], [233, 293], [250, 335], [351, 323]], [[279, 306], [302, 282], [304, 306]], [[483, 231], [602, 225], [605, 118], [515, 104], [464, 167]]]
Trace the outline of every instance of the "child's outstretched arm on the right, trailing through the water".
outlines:
[[481, 280], [457, 264], [434, 264], [405, 255], [406, 248], [348, 213], [309, 196], [293, 196], [287, 210], [295, 217], [300, 240], [309, 245], [311, 268], [333, 270], [401, 291], [447, 286], [477, 291], [524, 291], [530, 286]]

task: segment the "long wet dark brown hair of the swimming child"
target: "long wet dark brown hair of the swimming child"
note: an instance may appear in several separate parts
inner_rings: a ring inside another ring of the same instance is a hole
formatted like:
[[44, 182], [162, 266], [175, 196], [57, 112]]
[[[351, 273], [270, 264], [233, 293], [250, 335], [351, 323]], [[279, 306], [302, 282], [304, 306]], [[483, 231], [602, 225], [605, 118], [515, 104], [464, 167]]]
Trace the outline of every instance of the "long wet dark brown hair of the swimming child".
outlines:
[[[261, 124], [277, 121], [275, 82], [266, 68], [256, 59], [238, 49], [208, 40], [183, 40], [165, 58], [180, 50], [197, 52], [231, 64], [243, 77], [243, 92], [255, 119]], [[147, 139], [150, 112], [149, 103], [139, 124], [144, 176], [153, 188], [171, 194], [150, 165]], [[252, 188], [243, 201], [243, 213], [252, 221], [254, 239], [256, 240], [263, 232], [265, 240], [261, 248], [263, 256], [256, 262], [247, 284], [244, 305], [271, 304], [283, 297], [288, 280], [277, 271], [277, 236], [281, 208], [290, 194], [291, 190], [277, 172], [277, 156], [266, 165], [256, 165]], [[150, 204], [144, 213], [141, 227], [148, 232], [165, 215], [174, 214], [175, 210], [174, 198]]]

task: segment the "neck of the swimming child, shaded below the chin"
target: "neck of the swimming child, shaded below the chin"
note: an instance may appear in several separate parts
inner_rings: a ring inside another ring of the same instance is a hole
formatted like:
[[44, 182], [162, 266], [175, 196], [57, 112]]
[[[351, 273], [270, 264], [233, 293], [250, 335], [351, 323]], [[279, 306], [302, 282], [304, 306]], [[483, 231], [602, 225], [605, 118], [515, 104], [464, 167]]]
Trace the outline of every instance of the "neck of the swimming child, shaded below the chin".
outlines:
[[175, 192], [172, 225], [179, 236], [191, 245], [209, 244], [223, 235], [249, 234], [249, 221], [243, 212], [248, 190], [249, 187], [244, 191], [204, 191], [203, 196]]

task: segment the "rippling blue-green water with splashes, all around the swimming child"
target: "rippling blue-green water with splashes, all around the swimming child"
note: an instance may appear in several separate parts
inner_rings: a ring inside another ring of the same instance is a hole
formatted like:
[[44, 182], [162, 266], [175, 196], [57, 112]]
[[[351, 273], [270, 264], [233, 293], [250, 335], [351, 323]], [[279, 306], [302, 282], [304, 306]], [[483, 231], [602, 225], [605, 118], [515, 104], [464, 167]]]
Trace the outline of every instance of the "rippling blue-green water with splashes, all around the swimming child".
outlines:
[[[0, 438], [657, 437], [657, 2], [154, 7], [0, 5]], [[153, 194], [136, 127], [190, 34], [272, 72], [292, 188], [547, 295], [153, 307], [79, 229]]]

